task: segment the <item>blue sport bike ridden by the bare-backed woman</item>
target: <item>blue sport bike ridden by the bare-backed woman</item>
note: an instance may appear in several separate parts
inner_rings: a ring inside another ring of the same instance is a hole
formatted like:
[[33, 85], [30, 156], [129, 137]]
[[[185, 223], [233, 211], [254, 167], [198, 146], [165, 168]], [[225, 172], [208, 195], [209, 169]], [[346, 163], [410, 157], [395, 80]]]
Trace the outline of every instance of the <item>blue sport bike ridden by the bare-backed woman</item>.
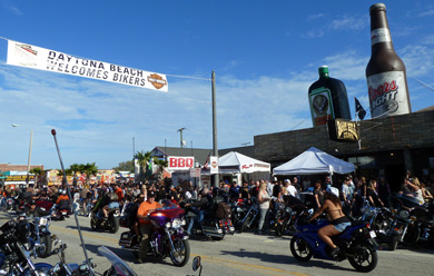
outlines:
[[329, 248], [317, 235], [319, 228], [326, 226], [328, 220], [317, 219], [308, 221], [308, 211], [303, 211], [295, 221], [296, 233], [290, 239], [289, 248], [293, 256], [300, 262], [308, 262], [312, 257], [342, 262], [348, 259], [358, 272], [372, 272], [378, 263], [375, 249], [375, 233], [369, 224], [354, 221], [342, 234], [334, 236], [333, 243], [339, 247], [335, 257], [331, 256]]

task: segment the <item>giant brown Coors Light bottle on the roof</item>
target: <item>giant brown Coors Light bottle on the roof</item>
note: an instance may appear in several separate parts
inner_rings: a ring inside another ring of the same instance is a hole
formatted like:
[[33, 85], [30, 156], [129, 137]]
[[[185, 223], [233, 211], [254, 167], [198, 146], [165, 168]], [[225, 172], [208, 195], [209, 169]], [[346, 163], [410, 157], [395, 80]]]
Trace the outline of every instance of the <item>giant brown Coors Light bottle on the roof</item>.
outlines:
[[376, 3], [371, 14], [371, 60], [366, 67], [371, 117], [410, 114], [410, 96], [404, 62], [393, 48], [386, 6]]

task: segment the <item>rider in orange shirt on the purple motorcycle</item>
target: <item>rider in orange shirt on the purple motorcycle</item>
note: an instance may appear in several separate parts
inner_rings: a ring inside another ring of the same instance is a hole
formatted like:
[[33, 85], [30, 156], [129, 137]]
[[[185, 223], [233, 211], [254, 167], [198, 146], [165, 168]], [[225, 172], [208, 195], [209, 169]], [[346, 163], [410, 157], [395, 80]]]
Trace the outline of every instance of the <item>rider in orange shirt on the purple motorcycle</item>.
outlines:
[[156, 193], [154, 190], [149, 190], [147, 200], [141, 203], [139, 209], [137, 210], [137, 218], [139, 219], [141, 234], [139, 256], [137, 258], [139, 264], [142, 264], [146, 258], [146, 254], [148, 253], [149, 237], [152, 231], [152, 224], [148, 218], [148, 215], [155, 209], [161, 208], [161, 205], [155, 200], [155, 197]]

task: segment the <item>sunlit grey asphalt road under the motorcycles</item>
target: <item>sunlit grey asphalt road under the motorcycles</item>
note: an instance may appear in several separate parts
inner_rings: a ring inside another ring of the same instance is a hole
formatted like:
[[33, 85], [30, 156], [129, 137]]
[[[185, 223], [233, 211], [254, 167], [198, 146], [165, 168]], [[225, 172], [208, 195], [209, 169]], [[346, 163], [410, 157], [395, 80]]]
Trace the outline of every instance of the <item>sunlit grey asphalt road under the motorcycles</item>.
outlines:
[[[78, 216], [88, 256], [98, 264], [97, 272], [103, 273], [109, 263], [98, 255], [98, 247], [105, 245], [122, 258], [138, 275], [198, 275], [191, 269], [191, 260], [199, 255], [203, 259], [203, 275], [359, 275], [347, 260], [327, 262], [312, 259], [297, 262], [289, 252], [290, 236], [258, 236], [253, 233], [226, 236], [224, 240], [190, 239], [191, 257], [184, 267], [176, 267], [170, 258], [152, 258], [148, 263], [137, 264], [135, 256], [118, 246], [118, 238], [126, 228], [116, 234], [91, 231], [89, 218]], [[6, 221], [0, 214], [0, 225]], [[81, 263], [83, 252], [72, 217], [65, 221], [52, 221], [50, 229], [68, 245], [67, 262]], [[57, 256], [34, 259], [56, 264]], [[433, 275], [434, 250], [421, 247], [398, 247], [395, 252], [378, 250], [378, 265], [369, 275]]]

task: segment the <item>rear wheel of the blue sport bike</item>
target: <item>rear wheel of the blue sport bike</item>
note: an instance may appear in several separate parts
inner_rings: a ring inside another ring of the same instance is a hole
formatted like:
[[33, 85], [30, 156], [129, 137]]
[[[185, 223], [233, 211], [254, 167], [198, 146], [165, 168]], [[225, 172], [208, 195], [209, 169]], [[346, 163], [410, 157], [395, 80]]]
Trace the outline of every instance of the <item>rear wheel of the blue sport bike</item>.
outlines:
[[353, 252], [354, 257], [348, 257], [349, 264], [356, 268], [357, 272], [368, 273], [374, 270], [378, 263], [378, 255], [375, 248], [367, 244], [357, 244]]

